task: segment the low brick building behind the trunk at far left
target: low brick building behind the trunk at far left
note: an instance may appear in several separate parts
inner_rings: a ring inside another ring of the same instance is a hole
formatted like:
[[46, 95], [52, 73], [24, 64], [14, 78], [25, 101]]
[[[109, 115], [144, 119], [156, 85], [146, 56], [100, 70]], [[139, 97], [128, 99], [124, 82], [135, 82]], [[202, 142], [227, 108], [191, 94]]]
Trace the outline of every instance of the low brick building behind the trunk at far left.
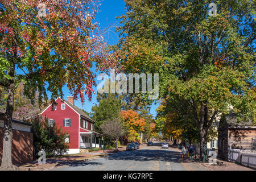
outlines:
[[[23, 164], [33, 161], [33, 133], [32, 125], [19, 119], [13, 120], [13, 164]], [[3, 120], [0, 120], [0, 163], [3, 154]]]

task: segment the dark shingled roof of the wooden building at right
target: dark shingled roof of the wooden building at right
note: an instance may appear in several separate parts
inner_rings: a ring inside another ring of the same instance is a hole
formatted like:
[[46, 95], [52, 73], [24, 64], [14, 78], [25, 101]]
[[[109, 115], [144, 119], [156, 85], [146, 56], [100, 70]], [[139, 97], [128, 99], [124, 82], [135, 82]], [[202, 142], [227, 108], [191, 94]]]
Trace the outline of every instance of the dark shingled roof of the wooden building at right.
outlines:
[[230, 112], [229, 114], [223, 115], [223, 118], [221, 119], [222, 121], [226, 122], [228, 126], [254, 126], [253, 122], [250, 121], [237, 121], [237, 116], [238, 114], [234, 113], [233, 111]]

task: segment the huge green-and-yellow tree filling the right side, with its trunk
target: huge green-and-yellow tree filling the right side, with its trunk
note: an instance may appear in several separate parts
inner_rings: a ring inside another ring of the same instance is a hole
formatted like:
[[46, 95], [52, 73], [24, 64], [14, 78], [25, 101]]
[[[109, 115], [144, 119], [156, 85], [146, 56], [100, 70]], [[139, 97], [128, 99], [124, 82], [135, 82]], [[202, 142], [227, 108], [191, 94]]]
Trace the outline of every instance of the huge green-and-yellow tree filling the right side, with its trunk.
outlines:
[[[199, 131], [200, 156], [217, 114], [232, 105], [255, 119], [255, 2], [126, 2], [118, 28], [123, 72], [159, 73], [160, 99], [188, 108]], [[179, 108], [180, 106], [180, 108]]]

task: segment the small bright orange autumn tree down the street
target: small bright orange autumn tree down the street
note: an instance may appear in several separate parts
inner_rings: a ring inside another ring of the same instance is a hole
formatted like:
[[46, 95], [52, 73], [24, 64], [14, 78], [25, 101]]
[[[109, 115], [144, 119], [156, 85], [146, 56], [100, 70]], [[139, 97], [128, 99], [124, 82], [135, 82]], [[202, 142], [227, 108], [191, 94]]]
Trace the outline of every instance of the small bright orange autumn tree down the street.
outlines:
[[139, 117], [139, 114], [134, 110], [122, 110], [120, 114], [124, 119], [128, 141], [134, 142], [140, 139], [139, 133], [144, 131], [146, 125], [144, 118]]

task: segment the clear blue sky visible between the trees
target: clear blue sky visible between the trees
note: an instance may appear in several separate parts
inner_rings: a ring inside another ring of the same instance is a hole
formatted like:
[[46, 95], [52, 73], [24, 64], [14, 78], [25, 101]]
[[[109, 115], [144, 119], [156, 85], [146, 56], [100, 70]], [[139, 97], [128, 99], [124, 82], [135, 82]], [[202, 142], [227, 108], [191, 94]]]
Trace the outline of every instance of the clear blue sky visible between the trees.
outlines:
[[[100, 23], [100, 29], [104, 30], [105, 28], [108, 28], [110, 26], [113, 26], [113, 24], [118, 25], [119, 19], [116, 19], [115, 17], [121, 16], [122, 14], [125, 14], [125, 3], [122, 0], [104, 0], [101, 2], [100, 11], [96, 15], [96, 22]], [[119, 33], [115, 32], [115, 28], [112, 28], [108, 34], [105, 35], [105, 40], [110, 45], [114, 45], [118, 42], [118, 36]], [[92, 71], [95, 72], [95, 67], [93, 67]], [[98, 75], [98, 73], [96, 73]], [[101, 81], [97, 80], [96, 77], [96, 83], [97, 85]], [[97, 97], [97, 89], [94, 88], [96, 91], [96, 94], [93, 95], [92, 101], [88, 100], [88, 97], [85, 97], [85, 103], [84, 105], [81, 104], [80, 100], [75, 101], [75, 105], [80, 107], [81, 109], [84, 109], [88, 111], [89, 113], [92, 111], [92, 107], [96, 104], [98, 104], [96, 97]], [[72, 94], [69, 92], [67, 86], [64, 86], [63, 88], [64, 93], [64, 99], [67, 100], [68, 96], [72, 96]], [[51, 93], [47, 92], [48, 96], [51, 96]], [[151, 114], [156, 115], [155, 109], [158, 107], [158, 104], [153, 104], [151, 106]]]

